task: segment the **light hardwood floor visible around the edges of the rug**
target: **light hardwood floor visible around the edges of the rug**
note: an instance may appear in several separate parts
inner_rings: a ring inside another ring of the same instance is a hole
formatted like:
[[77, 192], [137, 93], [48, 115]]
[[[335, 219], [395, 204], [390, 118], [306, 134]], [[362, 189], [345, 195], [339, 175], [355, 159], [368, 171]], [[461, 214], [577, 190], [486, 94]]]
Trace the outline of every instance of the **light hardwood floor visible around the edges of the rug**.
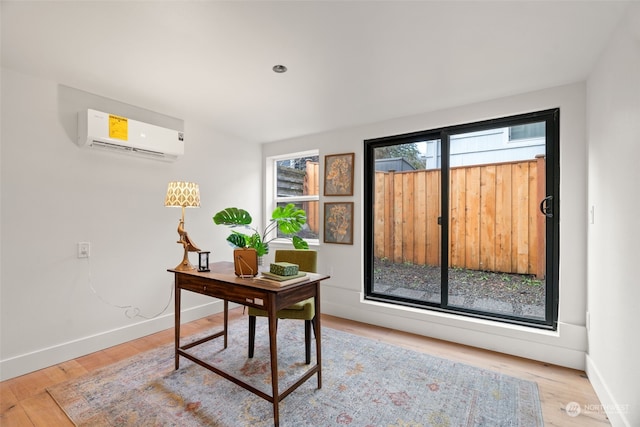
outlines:
[[[230, 319], [243, 317], [242, 309], [231, 310]], [[183, 326], [183, 335], [196, 333], [222, 324], [216, 314]], [[540, 391], [545, 426], [590, 427], [610, 425], [606, 414], [599, 411], [599, 400], [582, 371], [547, 363], [507, 356], [473, 347], [435, 340], [419, 335], [380, 328], [333, 316], [322, 316], [322, 325], [385, 341], [416, 351], [432, 354], [481, 368], [500, 371], [514, 377], [535, 381]], [[0, 383], [0, 425], [73, 426], [64, 412], [49, 397], [47, 387], [85, 375], [101, 367], [173, 341], [173, 329], [130, 341], [87, 356]], [[585, 408], [576, 417], [566, 412], [569, 402]]]

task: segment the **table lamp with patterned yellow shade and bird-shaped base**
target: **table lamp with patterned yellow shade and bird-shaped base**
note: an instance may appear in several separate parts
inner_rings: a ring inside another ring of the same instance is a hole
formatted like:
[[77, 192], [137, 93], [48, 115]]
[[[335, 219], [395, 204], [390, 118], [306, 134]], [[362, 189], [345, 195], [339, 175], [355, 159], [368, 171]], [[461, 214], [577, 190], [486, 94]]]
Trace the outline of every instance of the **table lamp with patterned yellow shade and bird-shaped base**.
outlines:
[[182, 217], [178, 222], [178, 235], [180, 239], [177, 243], [184, 247], [182, 262], [174, 270], [188, 271], [195, 270], [189, 262], [189, 252], [198, 252], [200, 249], [191, 241], [189, 234], [184, 229], [184, 208], [200, 207], [200, 188], [194, 182], [174, 181], [167, 187], [167, 196], [164, 199], [165, 206], [181, 207]]

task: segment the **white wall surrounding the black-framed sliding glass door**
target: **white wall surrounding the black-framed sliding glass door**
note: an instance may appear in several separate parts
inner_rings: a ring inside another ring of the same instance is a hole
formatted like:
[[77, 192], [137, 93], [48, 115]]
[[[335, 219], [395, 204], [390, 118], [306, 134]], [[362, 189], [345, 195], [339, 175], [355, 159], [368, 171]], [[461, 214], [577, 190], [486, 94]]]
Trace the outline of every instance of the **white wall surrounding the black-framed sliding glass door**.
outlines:
[[[463, 318], [363, 299], [363, 140], [560, 107], [560, 314], [557, 332]], [[584, 368], [586, 344], [586, 145], [585, 85], [573, 84], [465, 107], [405, 117], [266, 144], [263, 156], [319, 148], [320, 155], [355, 152], [353, 246], [321, 244], [323, 312], [376, 325]], [[323, 168], [323, 161], [320, 161]], [[321, 170], [322, 172], [322, 170]], [[320, 190], [322, 194], [322, 189]], [[322, 208], [321, 208], [322, 211]], [[322, 232], [321, 232], [322, 234]]]

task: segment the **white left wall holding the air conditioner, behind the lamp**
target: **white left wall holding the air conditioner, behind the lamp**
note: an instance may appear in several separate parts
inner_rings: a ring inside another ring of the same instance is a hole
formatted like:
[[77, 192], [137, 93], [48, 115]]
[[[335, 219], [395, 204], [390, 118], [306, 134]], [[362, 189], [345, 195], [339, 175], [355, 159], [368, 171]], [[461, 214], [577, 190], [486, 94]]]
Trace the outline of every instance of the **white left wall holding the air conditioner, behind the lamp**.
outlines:
[[[228, 230], [213, 224], [213, 214], [237, 204], [236, 191], [247, 209], [260, 212], [259, 146], [186, 116], [180, 117], [186, 153], [175, 163], [80, 149], [76, 114], [87, 107], [158, 125], [180, 123], [2, 69], [2, 379], [173, 325], [166, 269], [181, 261], [182, 246], [176, 243], [180, 209], [164, 207], [169, 181], [200, 185], [202, 206], [187, 209], [186, 229], [214, 261], [230, 259], [231, 248]], [[91, 243], [89, 260], [76, 257], [81, 241]], [[113, 306], [138, 307], [150, 317], [168, 302], [153, 320], [129, 318]], [[185, 294], [183, 320], [220, 306]]]

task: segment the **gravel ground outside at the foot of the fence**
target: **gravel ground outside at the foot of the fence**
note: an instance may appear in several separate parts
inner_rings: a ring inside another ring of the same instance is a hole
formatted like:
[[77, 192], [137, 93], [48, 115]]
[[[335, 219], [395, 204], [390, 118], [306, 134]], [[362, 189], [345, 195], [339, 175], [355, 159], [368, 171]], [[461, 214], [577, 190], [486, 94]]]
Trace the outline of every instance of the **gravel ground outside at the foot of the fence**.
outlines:
[[[440, 302], [440, 267], [374, 260], [376, 292]], [[449, 304], [491, 313], [544, 318], [544, 280], [525, 274], [449, 269]]]

